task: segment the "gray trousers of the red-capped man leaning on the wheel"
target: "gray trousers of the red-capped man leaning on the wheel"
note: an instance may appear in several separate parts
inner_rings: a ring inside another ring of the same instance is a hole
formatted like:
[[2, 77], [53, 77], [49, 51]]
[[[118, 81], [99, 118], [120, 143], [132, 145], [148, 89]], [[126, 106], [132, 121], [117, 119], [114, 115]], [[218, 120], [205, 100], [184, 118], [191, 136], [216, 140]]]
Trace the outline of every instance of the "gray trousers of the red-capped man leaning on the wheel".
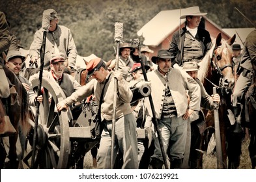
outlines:
[[[97, 155], [97, 167], [100, 169], [111, 168], [111, 135], [112, 121], [103, 120], [104, 129], [100, 139], [100, 148]], [[126, 169], [138, 168], [138, 149], [136, 136], [136, 122], [134, 114], [127, 114], [115, 122], [115, 142], [113, 161], [117, 157], [117, 152], [121, 151], [123, 166]]]

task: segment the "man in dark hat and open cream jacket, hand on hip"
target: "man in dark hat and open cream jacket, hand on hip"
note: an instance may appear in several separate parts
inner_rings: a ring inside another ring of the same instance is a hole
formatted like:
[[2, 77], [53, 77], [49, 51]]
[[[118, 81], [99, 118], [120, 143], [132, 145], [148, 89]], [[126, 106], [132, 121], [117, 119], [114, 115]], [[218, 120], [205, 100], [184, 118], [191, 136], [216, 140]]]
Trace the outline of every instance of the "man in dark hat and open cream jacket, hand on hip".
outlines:
[[[164, 152], [167, 153], [171, 168], [181, 168], [184, 158], [188, 118], [194, 110], [200, 109], [201, 91], [196, 81], [184, 70], [171, 68], [172, 57], [167, 49], [158, 51], [152, 62], [156, 70], [147, 73], [151, 84], [151, 96], [158, 127], [162, 133]], [[142, 81], [140, 78], [138, 81]], [[190, 96], [190, 105], [186, 90]], [[149, 99], [145, 105], [152, 117]], [[151, 157], [150, 168], [162, 168], [164, 161], [158, 136], [154, 140], [155, 150]]]

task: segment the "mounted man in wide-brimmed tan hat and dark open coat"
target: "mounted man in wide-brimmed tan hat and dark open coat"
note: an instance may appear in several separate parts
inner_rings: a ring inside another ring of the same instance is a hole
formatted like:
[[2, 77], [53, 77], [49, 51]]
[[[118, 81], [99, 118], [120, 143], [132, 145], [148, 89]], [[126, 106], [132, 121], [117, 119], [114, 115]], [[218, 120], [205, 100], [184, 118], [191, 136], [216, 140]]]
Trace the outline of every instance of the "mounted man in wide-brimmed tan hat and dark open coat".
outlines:
[[200, 62], [212, 45], [210, 33], [200, 26], [202, 13], [198, 6], [182, 9], [180, 19], [186, 18], [185, 27], [173, 34], [169, 51], [176, 57], [172, 66], [182, 66], [183, 62]]

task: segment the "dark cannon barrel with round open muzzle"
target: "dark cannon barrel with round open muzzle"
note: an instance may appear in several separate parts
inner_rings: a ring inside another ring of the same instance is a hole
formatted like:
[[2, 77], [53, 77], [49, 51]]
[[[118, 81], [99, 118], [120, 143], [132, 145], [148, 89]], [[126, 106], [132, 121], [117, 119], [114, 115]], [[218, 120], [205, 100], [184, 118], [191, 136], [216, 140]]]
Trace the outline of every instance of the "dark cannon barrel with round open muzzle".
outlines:
[[131, 90], [133, 94], [132, 101], [130, 102], [131, 104], [135, 103], [139, 99], [148, 97], [151, 93], [151, 88], [149, 85], [141, 85], [139, 87], [131, 88]]

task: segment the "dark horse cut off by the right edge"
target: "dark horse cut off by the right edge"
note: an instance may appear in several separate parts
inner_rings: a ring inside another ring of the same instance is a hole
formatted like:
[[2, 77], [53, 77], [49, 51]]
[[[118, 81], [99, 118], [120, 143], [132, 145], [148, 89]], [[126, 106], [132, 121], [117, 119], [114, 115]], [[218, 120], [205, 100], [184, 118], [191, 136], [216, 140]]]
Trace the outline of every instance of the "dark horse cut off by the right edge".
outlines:
[[253, 83], [249, 86], [248, 91], [246, 92], [246, 111], [248, 111], [248, 118], [246, 122], [249, 122], [249, 133], [250, 133], [250, 142], [249, 142], [249, 157], [251, 159], [251, 168], [256, 168], [256, 75], [254, 73]]

